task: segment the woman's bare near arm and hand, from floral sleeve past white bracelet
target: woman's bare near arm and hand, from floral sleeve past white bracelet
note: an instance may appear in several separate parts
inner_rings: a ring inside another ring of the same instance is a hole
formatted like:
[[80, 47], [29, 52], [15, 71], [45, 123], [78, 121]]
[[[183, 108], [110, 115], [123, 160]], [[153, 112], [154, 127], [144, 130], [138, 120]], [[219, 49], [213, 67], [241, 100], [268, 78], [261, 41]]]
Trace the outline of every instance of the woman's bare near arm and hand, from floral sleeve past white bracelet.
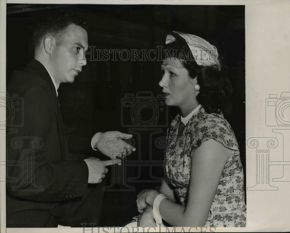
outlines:
[[[172, 226], [204, 226], [224, 165], [231, 156], [231, 152], [218, 141], [209, 139], [203, 142], [194, 153], [191, 153], [191, 172], [186, 206], [163, 199], [159, 205], [162, 219]], [[139, 194], [140, 205], [142, 206], [146, 202], [152, 206], [158, 194], [155, 190]], [[144, 202], [142, 198], [145, 199]]]

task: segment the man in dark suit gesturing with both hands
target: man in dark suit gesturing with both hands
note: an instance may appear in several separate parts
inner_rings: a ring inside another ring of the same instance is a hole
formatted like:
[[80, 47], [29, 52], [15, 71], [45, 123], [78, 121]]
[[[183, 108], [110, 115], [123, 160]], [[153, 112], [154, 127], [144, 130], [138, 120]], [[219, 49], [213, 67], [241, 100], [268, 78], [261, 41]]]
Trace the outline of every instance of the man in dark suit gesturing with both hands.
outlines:
[[122, 140], [132, 135], [112, 131], [81, 140], [84, 150], [92, 147], [110, 160], [69, 153], [68, 144], [81, 143], [66, 141], [57, 89], [60, 83], [72, 83], [86, 65], [86, 30], [84, 21], [73, 14], [46, 18], [33, 35], [35, 59], [15, 72], [7, 86], [10, 97], [16, 94], [23, 100], [23, 112], [16, 111], [13, 118], [23, 124], [7, 130], [7, 227], [77, 225], [74, 216], [85, 208], [80, 205], [91, 192], [88, 184], [100, 183], [106, 166], [120, 163], [104, 140], [112, 138], [115, 149], [124, 154], [135, 150]]

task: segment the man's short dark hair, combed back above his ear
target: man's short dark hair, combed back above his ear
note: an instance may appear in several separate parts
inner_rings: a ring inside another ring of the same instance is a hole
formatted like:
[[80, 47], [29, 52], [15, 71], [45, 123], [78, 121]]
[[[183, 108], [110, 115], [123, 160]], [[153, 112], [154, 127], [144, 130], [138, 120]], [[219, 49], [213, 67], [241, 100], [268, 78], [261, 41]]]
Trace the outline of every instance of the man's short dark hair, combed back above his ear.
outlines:
[[88, 30], [86, 22], [71, 12], [54, 12], [44, 17], [36, 26], [33, 33], [34, 50], [37, 50], [45, 37], [51, 35], [56, 38], [57, 43], [66, 31], [67, 26], [75, 24]]

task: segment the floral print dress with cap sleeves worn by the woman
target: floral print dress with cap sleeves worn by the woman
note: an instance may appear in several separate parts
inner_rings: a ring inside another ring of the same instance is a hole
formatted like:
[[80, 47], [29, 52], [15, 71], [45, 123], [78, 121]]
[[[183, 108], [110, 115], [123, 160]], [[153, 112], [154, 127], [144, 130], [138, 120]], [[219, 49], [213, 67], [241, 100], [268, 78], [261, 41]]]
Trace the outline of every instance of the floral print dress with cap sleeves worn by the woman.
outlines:
[[169, 182], [176, 187], [182, 205], [187, 199], [191, 152], [209, 139], [214, 139], [232, 150], [227, 160], [211, 205], [206, 226], [246, 227], [244, 174], [238, 143], [231, 126], [222, 113], [208, 114], [201, 107], [185, 125], [177, 137], [180, 115], [177, 115], [167, 131], [165, 168]]

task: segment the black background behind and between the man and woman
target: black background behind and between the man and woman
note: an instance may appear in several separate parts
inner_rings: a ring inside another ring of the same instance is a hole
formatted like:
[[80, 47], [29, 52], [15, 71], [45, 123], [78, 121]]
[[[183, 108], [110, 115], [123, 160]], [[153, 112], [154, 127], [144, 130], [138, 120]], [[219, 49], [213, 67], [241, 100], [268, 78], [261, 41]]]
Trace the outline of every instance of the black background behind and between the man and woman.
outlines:
[[[244, 6], [7, 4], [7, 82], [13, 71], [24, 68], [34, 57], [32, 33], [37, 19], [56, 10], [72, 11], [83, 17], [89, 27], [89, 45], [97, 49], [155, 49], [164, 45], [166, 35], [172, 30], [215, 42], [229, 67], [234, 111], [227, 119], [235, 131], [245, 166]], [[110, 192], [105, 192], [99, 225], [122, 225], [131, 219], [137, 214], [135, 200], [139, 191], [160, 184], [158, 177], [162, 176], [162, 165], [156, 161], [164, 159], [164, 152], [154, 146], [152, 150], [149, 148], [156, 137], [166, 135], [167, 125], [122, 127], [121, 122], [125, 94], [136, 96], [138, 91], [146, 91], [156, 97], [162, 91], [158, 86], [160, 79], [158, 61], [87, 61], [74, 83], [63, 83], [58, 89], [64, 123], [72, 133], [85, 136], [99, 131], [134, 131], [130, 132], [137, 151], [125, 163], [130, 165], [126, 166], [126, 178], [135, 177], [135, 181], [126, 183], [135, 187], [135, 191], [121, 192], [130, 188], [122, 181], [113, 182]], [[150, 119], [152, 111], [144, 108], [141, 115], [145, 120]], [[176, 109], [169, 108], [167, 114], [158, 117], [160, 122], [170, 122], [175, 115]], [[151, 171], [149, 165], [145, 165], [150, 158], [156, 164], [151, 166]], [[142, 164], [141, 161], [144, 162], [142, 168], [136, 165]], [[114, 168], [117, 173], [124, 172], [124, 165]], [[106, 181], [108, 186], [115, 172], [112, 174]]]

